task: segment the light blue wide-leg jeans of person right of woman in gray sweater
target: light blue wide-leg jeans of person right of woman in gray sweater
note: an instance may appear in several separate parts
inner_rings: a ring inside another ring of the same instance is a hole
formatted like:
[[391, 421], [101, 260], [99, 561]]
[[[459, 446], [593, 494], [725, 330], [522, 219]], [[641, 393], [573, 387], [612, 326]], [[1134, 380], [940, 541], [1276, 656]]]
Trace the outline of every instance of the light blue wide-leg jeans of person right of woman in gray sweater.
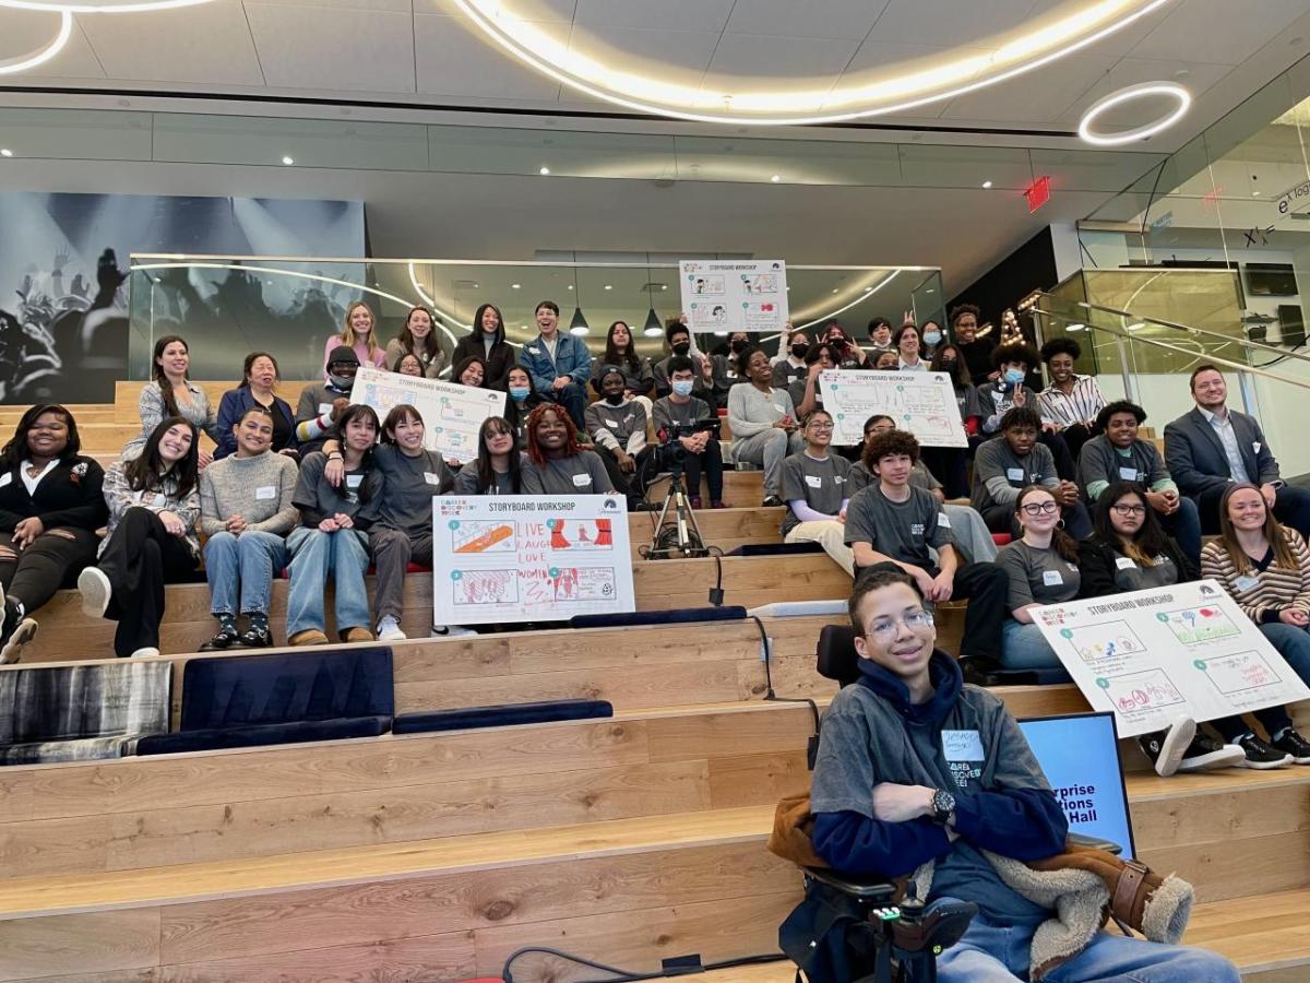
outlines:
[[287, 594], [287, 636], [309, 628], [324, 630], [324, 588], [328, 574], [335, 587], [337, 632], [368, 628], [368, 548], [363, 532], [324, 532], [301, 526], [287, 537], [291, 590]]

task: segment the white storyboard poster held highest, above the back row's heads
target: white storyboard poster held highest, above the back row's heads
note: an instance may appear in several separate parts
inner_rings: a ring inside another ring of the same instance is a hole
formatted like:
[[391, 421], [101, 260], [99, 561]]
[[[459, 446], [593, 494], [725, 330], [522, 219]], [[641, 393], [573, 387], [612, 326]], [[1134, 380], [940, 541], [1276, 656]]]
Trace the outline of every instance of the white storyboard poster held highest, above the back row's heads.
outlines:
[[781, 332], [790, 317], [782, 260], [683, 260], [677, 267], [693, 332]]

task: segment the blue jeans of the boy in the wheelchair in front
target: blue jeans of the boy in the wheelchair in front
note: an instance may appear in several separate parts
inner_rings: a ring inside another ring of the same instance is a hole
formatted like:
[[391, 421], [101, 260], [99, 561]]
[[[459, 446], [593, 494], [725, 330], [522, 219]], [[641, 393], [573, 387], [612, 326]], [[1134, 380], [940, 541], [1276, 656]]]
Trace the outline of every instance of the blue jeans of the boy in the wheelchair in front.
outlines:
[[[941, 983], [1011, 983], [1028, 978], [1035, 925], [1002, 928], [976, 916], [968, 932], [937, 959]], [[1237, 967], [1205, 949], [1148, 942], [1098, 932], [1047, 983], [1241, 983]]]

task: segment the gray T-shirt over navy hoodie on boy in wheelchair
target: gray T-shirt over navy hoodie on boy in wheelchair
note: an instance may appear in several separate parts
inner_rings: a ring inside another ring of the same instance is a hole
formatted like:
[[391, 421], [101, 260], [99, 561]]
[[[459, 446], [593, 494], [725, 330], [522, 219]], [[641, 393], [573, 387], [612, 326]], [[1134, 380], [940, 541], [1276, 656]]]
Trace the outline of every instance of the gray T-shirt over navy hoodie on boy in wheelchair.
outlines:
[[[979, 735], [981, 761], [946, 758], [942, 731]], [[1023, 731], [992, 693], [965, 685], [941, 726], [908, 726], [896, 706], [866, 685], [845, 687], [823, 718], [810, 792], [815, 813], [874, 818], [874, 786], [883, 782], [950, 789], [955, 796], [1049, 784]], [[958, 839], [934, 868], [929, 900], [975, 902], [989, 921], [1034, 924], [1048, 912], [1009, 887], [977, 848]]]

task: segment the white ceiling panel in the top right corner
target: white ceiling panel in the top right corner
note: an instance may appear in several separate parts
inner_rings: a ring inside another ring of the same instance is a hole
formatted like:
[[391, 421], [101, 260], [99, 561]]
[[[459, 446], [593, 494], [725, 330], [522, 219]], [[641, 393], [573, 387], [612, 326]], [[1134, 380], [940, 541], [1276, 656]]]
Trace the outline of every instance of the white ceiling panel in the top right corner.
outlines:
[[1306, 12], [1306, 0], [1182, 0], [1133, 48], [1134, 58], [1241, 64]]

